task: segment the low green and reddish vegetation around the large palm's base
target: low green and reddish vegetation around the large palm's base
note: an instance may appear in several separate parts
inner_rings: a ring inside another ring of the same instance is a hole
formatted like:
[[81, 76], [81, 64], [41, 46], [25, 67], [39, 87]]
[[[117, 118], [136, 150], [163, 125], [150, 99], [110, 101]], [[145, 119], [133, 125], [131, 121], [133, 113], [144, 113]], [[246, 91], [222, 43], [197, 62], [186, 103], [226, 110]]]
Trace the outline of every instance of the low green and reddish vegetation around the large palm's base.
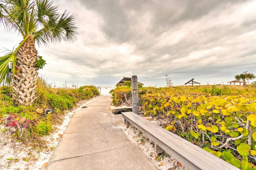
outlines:
[[[31, 106], [21, 106], [12, 99], [12, 87], [0, 88], [0, 125], [2, 132], [11, 132], [12, 138], [31, 146], [44, 147], [42, 137], [61, 124], [65, 111], [79, 100], [88, 100], [100, 95], [92, 85], [79, 88], [52, 88], [43, 79], [38, 79], [36, 100]], [[52, 112], [45, 114], [46, 109]]]

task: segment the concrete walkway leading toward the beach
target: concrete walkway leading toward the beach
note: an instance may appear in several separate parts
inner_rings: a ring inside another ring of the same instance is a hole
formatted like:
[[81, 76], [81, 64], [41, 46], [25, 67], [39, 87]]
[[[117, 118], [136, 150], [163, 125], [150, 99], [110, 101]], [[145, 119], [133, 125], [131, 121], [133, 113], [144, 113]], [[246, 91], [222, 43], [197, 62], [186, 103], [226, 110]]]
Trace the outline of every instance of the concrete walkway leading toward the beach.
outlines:
[[125, 136], [108, 112], [110, 103], [102, 96], [73, 115], [46, 169], [158, 169]]

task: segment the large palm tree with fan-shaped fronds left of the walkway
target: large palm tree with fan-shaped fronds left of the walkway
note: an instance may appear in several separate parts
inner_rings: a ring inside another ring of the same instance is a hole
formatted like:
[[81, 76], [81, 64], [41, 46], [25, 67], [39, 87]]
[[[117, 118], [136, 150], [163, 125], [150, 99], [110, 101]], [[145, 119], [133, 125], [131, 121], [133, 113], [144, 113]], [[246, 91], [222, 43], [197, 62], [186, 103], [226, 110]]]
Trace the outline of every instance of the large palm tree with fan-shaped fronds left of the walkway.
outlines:
[[62, 40], [73, 42], [78, 35], [74, 14], [59, 12], [51, 0], [0, 0], [0, 26], [18, 32], [19, 46], [0, 57], [0, 83], [13, 86], [13, 98], [30, 105], [35, 98], [38, 46]]

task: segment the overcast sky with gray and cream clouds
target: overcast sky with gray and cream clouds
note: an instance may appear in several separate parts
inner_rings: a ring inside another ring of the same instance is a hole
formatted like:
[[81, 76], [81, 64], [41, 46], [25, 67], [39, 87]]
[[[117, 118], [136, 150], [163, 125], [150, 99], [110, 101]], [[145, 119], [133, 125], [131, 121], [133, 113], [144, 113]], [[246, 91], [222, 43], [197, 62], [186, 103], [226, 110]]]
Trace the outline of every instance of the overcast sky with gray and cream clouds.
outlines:
[[[48, 82], [114, 87], [138, 76], [145, 86], [195, 78], [227, 84], [244, 71], [256, 74], [256, 1], [56, 0], [76, 15], [74, 43], [37, 47]], [[0, 27], [0, 52], [22, 40]], [[4, 55], [5, 53], [0, 53]]]

